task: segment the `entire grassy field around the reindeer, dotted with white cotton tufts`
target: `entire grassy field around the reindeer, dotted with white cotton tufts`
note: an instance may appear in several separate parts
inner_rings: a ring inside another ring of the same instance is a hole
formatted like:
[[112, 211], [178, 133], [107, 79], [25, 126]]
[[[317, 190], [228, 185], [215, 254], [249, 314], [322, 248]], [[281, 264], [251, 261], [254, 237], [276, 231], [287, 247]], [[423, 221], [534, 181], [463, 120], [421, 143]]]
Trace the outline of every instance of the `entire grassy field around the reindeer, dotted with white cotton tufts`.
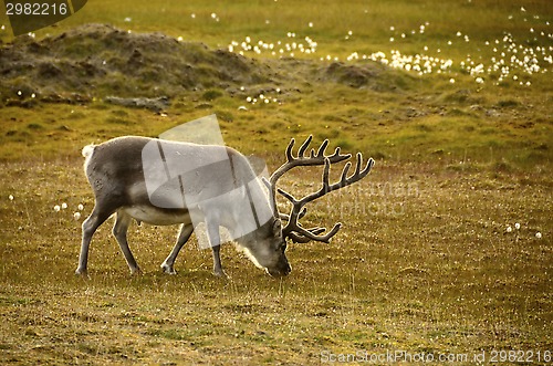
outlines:
[[[0, 362], [551, 364], [551, 22], [550, 1], [90, 1], [13, 39], [0, 15]], [[131, 276], [105, 224], [75, 276], [81, 148], [212, 113], [271, 169], [310, 134], [376, 159], [310, 208], [332, 243], [289, 245], [283, 280], [227, 244], [221, 280], [192, 237], [169, 276], [177, 228], [133, 226]]]

